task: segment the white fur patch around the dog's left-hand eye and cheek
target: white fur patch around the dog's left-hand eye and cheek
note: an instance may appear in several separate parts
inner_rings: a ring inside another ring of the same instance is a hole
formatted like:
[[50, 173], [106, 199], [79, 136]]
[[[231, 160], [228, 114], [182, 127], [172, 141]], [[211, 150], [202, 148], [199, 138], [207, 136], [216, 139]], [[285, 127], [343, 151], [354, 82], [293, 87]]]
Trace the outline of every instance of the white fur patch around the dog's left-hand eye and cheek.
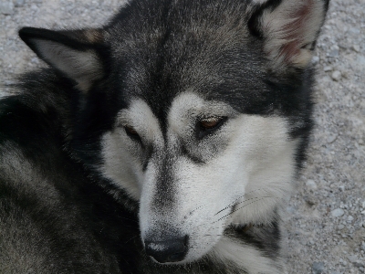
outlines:
[[114, 184], [120, 185], [133, 198], [141, 197], [141, 184], [145, 174], [142, 171], [141, 143], [130, 140], [124, 126], [132, 126], [144, 142], [162, 146], [162, 132], [159, 122], [150, 107], [143, 100], [133, 100], [130, 108], [120, 111], [116, 127], [103, 137], [102, 154], [104, 164], [100, 168]]

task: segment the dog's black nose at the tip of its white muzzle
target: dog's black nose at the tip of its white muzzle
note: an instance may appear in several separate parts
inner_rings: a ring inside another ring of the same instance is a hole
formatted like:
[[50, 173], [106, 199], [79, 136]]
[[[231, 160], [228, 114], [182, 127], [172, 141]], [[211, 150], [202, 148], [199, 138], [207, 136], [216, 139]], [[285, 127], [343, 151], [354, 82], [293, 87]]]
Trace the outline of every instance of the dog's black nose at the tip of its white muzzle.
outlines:
[[188, 237], [176, 237], [163, 241], [144, 241], [147, 255], [159, 263], [177, 262], [185, 258], [188, 252]]

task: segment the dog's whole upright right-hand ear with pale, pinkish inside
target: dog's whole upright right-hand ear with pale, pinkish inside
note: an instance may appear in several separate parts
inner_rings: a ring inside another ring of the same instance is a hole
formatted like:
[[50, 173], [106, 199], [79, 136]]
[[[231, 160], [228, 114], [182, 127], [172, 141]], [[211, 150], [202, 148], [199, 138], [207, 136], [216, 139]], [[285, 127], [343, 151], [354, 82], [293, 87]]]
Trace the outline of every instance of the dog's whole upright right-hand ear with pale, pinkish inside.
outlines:
[[306, 68], [327, 9], [328, 0], [268, 0], [257, 5], [248, 27], [264, 40], [273, 69]]

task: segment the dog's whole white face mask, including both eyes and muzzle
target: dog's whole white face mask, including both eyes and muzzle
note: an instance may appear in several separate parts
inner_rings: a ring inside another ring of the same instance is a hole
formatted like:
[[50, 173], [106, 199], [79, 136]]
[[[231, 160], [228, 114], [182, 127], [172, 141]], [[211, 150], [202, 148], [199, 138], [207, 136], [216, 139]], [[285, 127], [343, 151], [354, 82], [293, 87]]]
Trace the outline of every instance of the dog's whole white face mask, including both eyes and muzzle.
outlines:
[[296, 146], [284, 119], [187, 91], [172, 100], [165, 124], [141, 99], [120, 111], [103, 136], [101, 170], [141, 201], [142, 240], [168, 248], [181, 239], [187, 262], [211, 250], [229, 224], [269, 217], [290, 189]]

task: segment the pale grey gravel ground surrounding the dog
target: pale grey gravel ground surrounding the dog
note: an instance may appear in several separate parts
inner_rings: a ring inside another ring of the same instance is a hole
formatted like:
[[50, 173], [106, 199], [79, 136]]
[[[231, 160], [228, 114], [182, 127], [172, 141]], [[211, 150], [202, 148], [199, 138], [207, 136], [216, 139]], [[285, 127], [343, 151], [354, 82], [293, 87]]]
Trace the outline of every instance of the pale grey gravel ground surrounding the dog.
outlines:
[[[153, 1], [153, 0], [151, 0]], [[0, 94], [43, 66], [20, 26], [99, 26], [118, 0], [1, 0]], [[287, 206], [290, 273], [365, 273], [365, 0], [332, 0], [313, 62], [316, 128]]]

